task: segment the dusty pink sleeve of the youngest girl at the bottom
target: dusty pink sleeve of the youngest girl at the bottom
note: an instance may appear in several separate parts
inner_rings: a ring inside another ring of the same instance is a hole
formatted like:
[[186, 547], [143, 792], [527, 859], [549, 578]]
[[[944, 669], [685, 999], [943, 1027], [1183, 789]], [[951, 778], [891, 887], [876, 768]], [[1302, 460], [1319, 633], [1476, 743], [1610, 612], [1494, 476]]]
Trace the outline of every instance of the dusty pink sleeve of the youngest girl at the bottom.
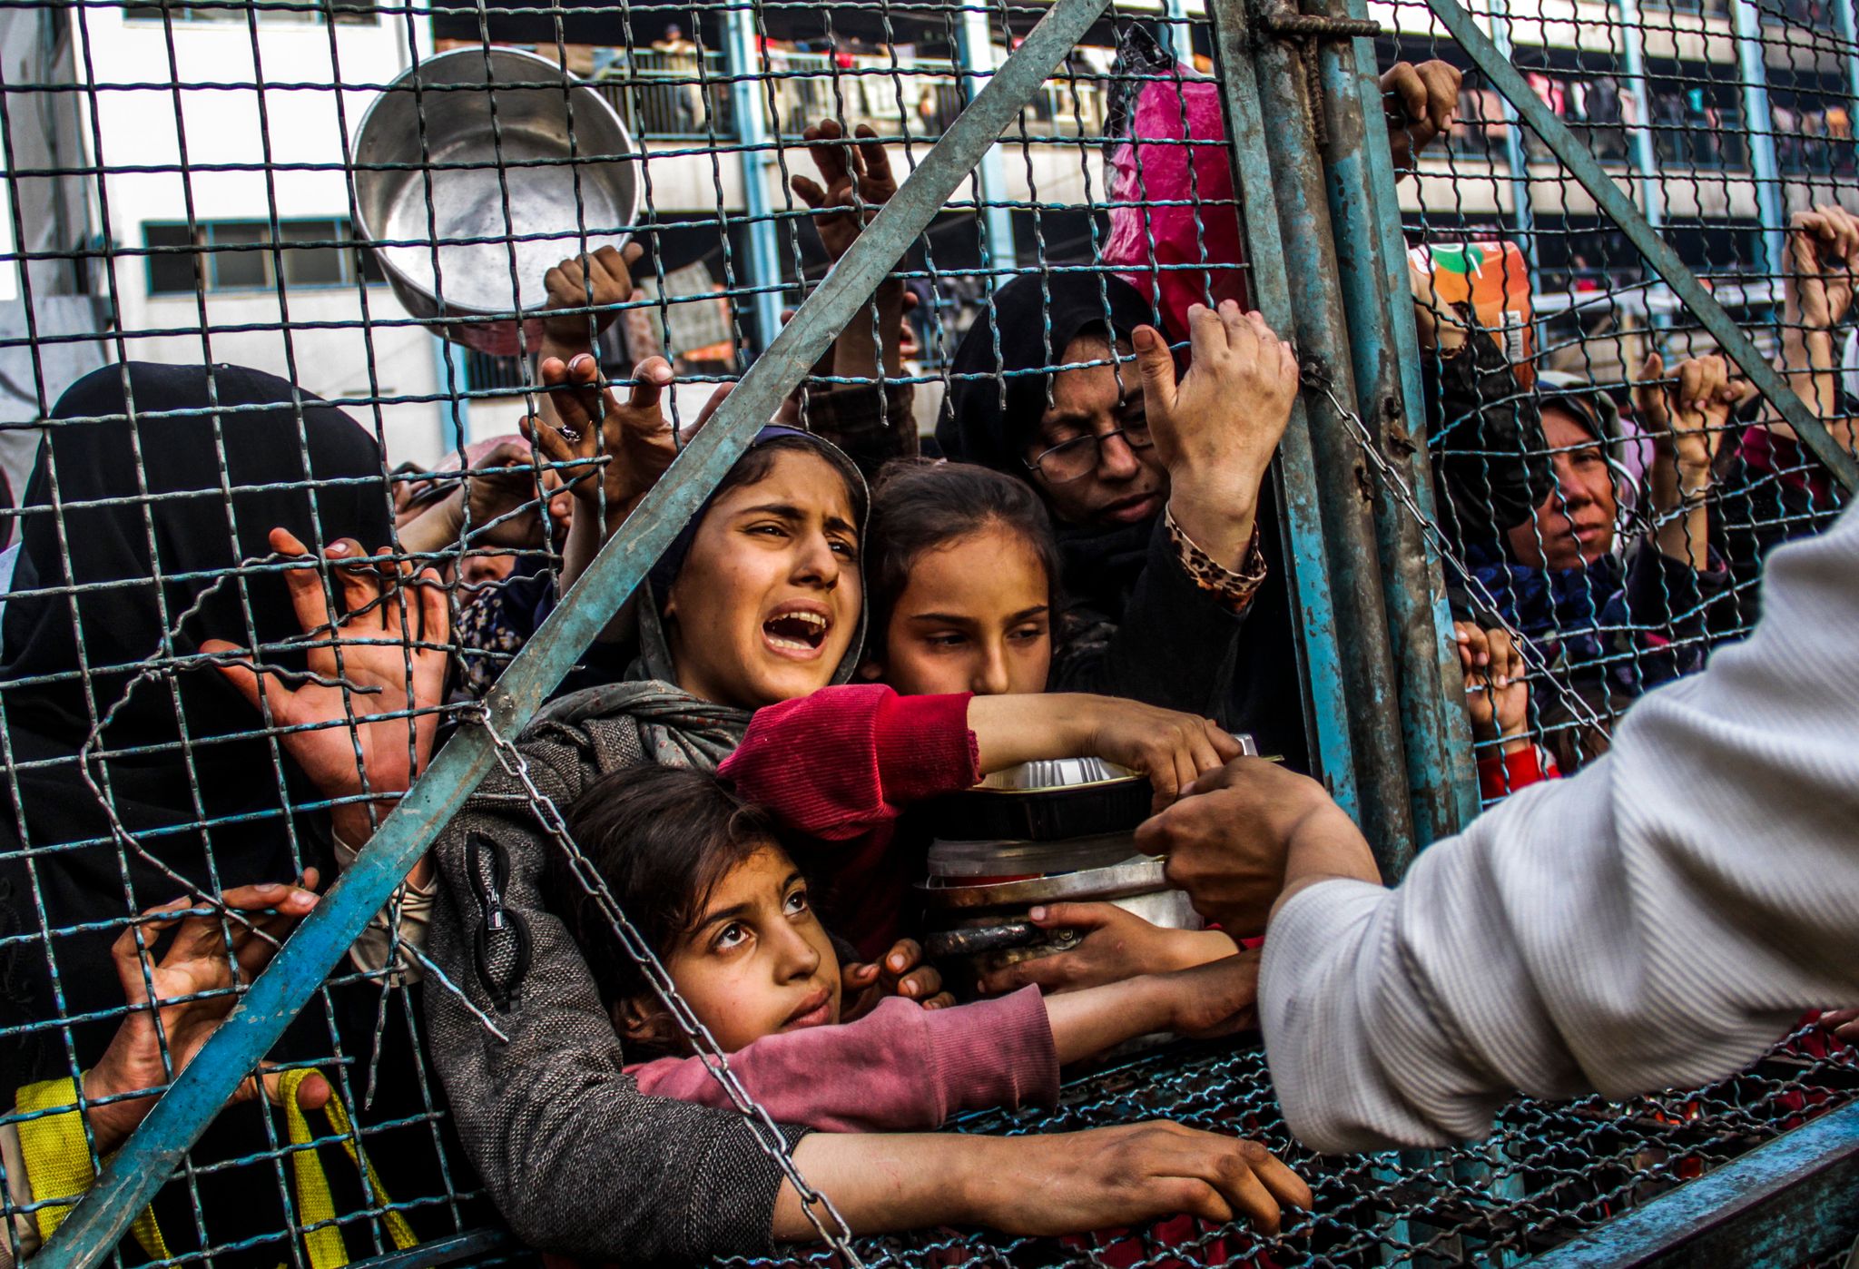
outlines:
[[[729, 1068], [777, 1124], [822, 1132], [924, 1132], [961, 1111], [1058, 1100], [1037, 987], [950, 1009], [890, 996], [857, 1022], [764, 1037], [731, 1053]], [[626, 1070], [639, 1092], [731, 1109], [699, 1057]]]

